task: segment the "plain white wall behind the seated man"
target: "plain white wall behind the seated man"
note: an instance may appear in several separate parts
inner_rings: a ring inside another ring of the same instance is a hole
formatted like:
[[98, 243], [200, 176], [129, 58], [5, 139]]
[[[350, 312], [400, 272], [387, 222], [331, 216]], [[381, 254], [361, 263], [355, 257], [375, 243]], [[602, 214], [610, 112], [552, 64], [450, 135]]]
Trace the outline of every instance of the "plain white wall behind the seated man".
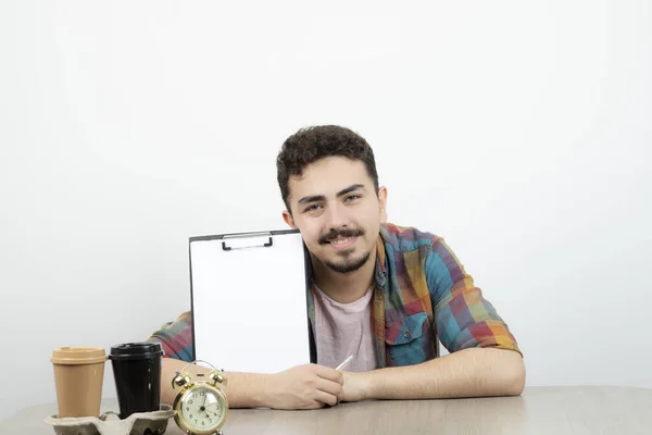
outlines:
[[188, 309], [189, 236], [284, 228], [274, 159], [313, 123], [369, 140], [528, 385], [652, 387], [649, 2], [13, 0], [0, 54], [0, 417], [54, 400], [52, 348]]

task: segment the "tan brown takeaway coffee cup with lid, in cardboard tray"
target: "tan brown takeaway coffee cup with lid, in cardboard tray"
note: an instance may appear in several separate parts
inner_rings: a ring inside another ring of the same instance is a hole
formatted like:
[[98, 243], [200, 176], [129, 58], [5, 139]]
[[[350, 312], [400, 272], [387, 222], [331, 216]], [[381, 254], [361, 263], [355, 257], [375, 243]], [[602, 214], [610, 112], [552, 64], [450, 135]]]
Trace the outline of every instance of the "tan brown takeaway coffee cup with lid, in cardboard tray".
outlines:
[[58, 417], [100, 417], [106, 353], [101, 347], [62, 347], [52, 351]]

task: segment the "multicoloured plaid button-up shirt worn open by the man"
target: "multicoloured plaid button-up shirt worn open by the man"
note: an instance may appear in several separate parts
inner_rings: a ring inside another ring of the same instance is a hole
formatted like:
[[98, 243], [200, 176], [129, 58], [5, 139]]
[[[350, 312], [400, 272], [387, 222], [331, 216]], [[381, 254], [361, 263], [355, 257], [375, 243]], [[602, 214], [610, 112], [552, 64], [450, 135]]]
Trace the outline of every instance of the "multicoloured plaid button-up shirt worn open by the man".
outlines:
[[[380, 368], [437, 358], [438, 341], [451, 353], [494, 347], [523, 355], [505, 322], [441, 237], [383, 224], [376, 248], [372, 316]], [[310, 268], [309, 282], [312, 285]], [[312, 325], [315, 311], [310, 290], [306, 300]], [[192, 361], [191, 322], [190, 312], [185, 312], [149, 340], [161, 341], [166, 357]], [[310, 338], [314, 362], [314, 337]]]

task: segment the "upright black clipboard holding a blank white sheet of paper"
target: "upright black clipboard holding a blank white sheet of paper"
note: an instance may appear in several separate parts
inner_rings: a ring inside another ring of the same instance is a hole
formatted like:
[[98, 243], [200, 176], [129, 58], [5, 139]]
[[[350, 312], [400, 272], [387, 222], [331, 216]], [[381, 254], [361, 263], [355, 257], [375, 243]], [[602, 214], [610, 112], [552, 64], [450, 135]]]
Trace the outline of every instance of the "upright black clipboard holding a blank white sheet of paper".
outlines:
[[189, 240], [195, 360], [249, 373], [312, 361], [308, 253], [298, 229]]

